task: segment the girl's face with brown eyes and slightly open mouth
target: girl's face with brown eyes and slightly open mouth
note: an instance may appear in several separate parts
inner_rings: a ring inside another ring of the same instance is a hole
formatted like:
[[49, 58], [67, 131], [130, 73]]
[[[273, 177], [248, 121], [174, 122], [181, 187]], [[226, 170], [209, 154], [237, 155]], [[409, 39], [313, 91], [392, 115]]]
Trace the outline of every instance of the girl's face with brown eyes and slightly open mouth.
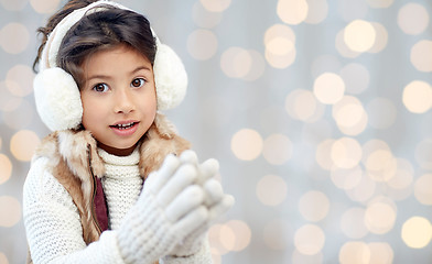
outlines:
[[156, 113], [151, 63], [136, 50], [119, 45], [93, 54], [83, 69], [84, 128], [106, 152], [129, 155]]

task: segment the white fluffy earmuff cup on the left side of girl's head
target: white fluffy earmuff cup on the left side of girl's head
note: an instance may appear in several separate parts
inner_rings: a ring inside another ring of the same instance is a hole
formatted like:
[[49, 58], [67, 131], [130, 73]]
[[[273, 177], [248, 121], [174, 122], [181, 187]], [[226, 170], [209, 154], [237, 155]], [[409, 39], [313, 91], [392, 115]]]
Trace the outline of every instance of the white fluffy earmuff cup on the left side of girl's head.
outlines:
[[36, 109], [51, 131], [77, 129], [83, 105], [74, 78], [58, 67], [47, 68], [33, 81]]

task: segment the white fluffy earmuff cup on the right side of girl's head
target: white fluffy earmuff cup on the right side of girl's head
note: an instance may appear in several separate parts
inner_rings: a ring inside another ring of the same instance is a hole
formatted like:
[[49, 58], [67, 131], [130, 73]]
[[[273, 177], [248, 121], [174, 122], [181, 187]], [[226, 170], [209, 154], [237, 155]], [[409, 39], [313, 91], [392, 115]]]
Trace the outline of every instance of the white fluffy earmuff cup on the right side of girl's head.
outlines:
[[159, 43], [153, 64], [158, 109], [179, 106], [186, 95], [187, 74], [179, 55], [168, 45]]

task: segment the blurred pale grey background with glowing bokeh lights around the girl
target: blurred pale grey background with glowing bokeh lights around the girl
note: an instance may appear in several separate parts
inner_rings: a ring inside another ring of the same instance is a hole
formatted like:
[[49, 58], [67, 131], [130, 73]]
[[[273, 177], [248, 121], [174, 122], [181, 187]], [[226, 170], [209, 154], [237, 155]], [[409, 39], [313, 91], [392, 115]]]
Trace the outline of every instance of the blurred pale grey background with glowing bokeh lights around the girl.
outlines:
[[[35, 31], [65, 2], [0, 0], [0, 264], [25, 260]], [[184, 61], [165, 113], [236, 197], [215, 263], [432, 262], [430, 0], [119, 2]]]

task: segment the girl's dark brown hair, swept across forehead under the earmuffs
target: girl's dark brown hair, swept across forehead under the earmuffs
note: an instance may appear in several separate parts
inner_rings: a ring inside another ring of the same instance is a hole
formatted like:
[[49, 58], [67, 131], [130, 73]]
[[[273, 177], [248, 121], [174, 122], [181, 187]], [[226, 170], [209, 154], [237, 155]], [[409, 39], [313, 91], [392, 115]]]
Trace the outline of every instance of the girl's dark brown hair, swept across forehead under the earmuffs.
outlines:
[[[63, 9], [50, 18], [45, 28], [37, 31], [43, 34], [42, 44], [33, 68], [37, 65], [46, 40], [54, 28], [76, 9], [84, 8], [95, 0], [71, 0]], [[133, 11], [118, 9], [109, 4], [102, 11], [93, 12], [80, 19], [64, 36], [57, 54], [57, 65], [69, 73], [80, 87], [83, 81], [82, 64], [89, 55], [126, 44], [153, 65], [156, 53], [154, 36], [149, 21]]]

